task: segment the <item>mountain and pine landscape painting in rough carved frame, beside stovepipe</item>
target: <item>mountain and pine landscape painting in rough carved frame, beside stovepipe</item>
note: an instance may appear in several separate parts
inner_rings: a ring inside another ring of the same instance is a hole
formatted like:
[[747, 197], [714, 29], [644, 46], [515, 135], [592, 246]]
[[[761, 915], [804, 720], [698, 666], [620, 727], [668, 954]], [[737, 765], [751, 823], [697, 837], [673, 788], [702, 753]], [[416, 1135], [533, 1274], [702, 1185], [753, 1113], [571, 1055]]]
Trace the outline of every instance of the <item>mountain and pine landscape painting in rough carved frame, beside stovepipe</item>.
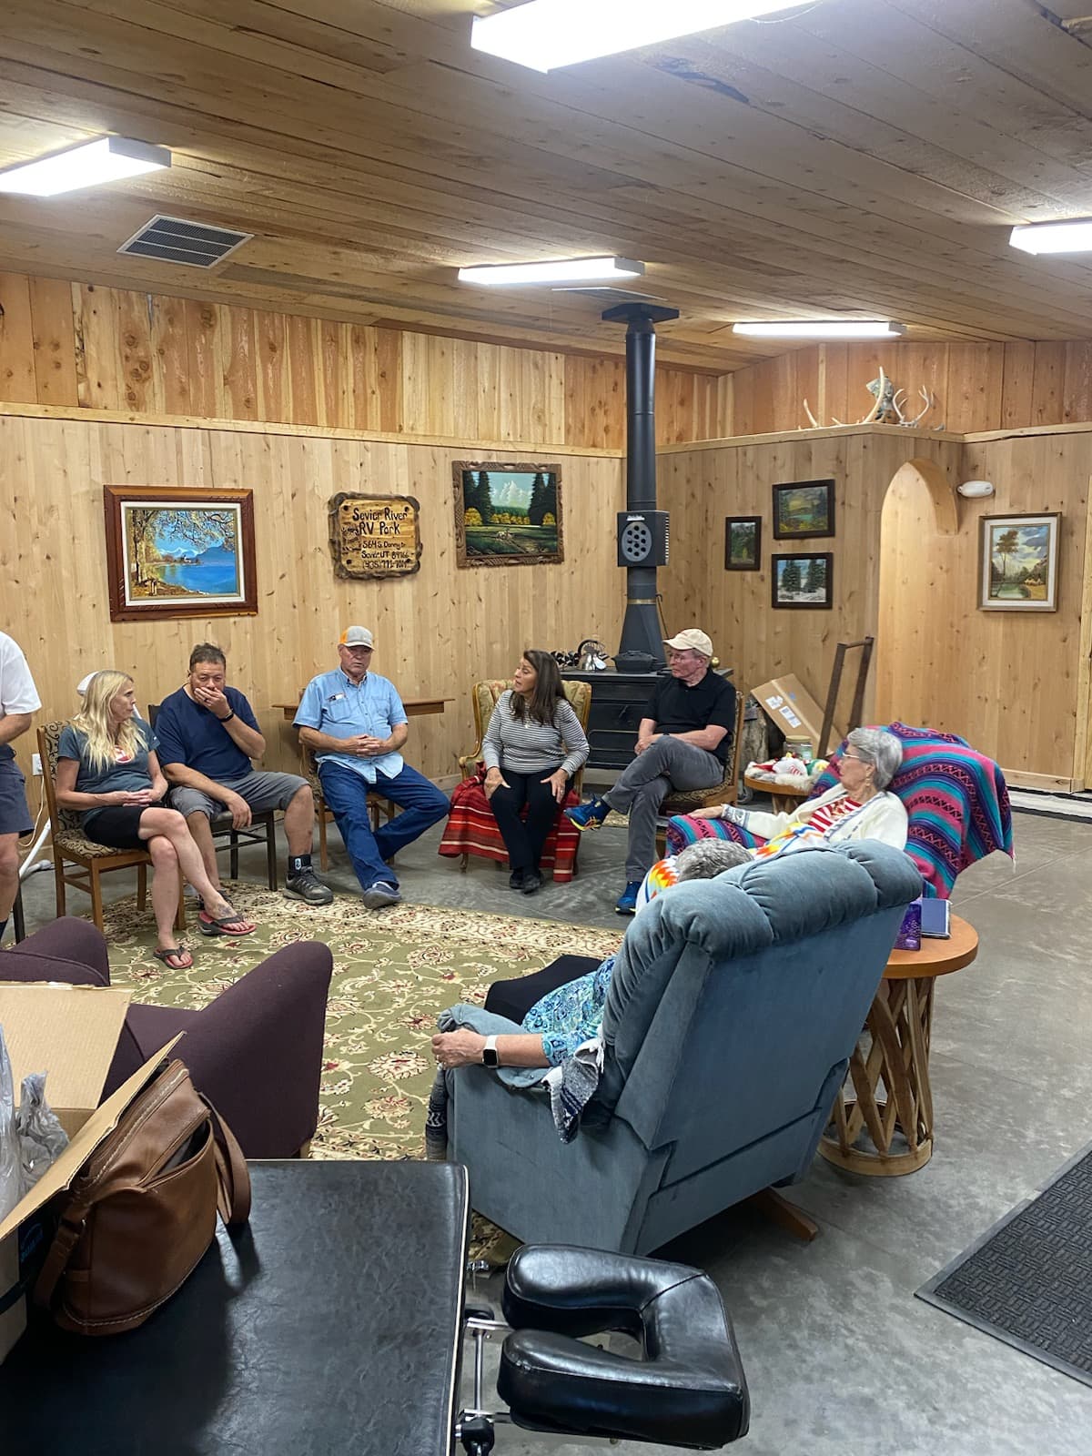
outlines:
[[460, 566], [565, 559], [559, 466], [456, 460], [453, 473]]

